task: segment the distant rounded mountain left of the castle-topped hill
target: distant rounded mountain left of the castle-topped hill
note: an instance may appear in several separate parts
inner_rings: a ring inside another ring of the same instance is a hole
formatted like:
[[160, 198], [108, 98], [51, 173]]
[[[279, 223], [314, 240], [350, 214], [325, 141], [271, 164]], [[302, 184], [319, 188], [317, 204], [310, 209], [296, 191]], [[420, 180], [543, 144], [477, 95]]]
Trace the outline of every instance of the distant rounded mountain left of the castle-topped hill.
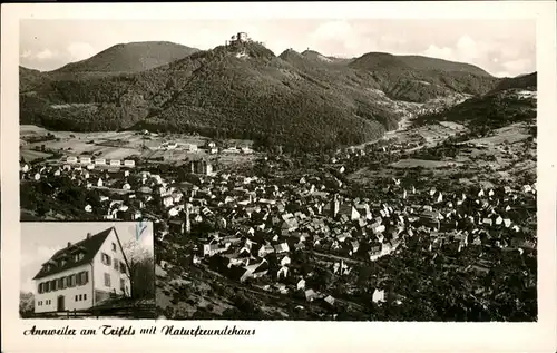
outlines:
[[68, 63], [52, 72], [139, 72], [183, 59], [198, 49], [167, 41], [116, 45], [96, 56]]

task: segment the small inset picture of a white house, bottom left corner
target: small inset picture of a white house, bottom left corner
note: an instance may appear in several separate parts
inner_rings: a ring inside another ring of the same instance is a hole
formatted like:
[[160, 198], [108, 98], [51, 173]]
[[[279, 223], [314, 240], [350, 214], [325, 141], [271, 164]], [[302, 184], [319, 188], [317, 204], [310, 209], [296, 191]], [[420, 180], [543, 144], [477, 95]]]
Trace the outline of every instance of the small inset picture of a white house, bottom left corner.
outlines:
[[22, 318], [154, 318], [150, 223], [23, 223]]

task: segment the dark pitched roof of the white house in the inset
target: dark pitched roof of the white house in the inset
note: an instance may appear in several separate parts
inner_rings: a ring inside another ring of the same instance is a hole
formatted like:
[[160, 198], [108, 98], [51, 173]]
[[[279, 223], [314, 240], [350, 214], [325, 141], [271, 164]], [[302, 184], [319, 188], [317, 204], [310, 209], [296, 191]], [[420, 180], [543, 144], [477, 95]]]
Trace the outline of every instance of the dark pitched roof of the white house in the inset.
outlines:
[[100, 249], [100, 246], [102, 246], [102, 243], [105, 243], [105, 239], [108, 237], [108, 235], [110, 234], [113, 228], [114, 227], [110, 227], [110, 228], [105, 229], [100, 233], [91, 235], [90, 237], [85, 238], [85, 239], [82, 239], [74, 245], [70, 245], [69, 247], [65, 247], [62, 249], [59, 249], [58, 252], [56, 252], [52, 255], [52, 257], [50, 257], [49, 262], [51, 262], [51, 261], [56, 262], [57, 259], [63, 257], [65, 255], [72, 254], [77, 249], [79, 249], [80, 252], [84, 253], [84, 257], [78, 262], [68, 261], [63, 266], [52, 266], [49, 269], [47, 269], [47, 267], [42, 267], [39, 271], [39, 273], [37, 273], [37, 275], [33, 277], [33, 280], [40, 280], [40, 278], [43, 278], [43, 277], [47, 277], [50, 275], [55, 275], [57, 273], [60, 273], [60, 272], [90, 263], [92, 261], [92, 258], [95, 257], [95, 255]]

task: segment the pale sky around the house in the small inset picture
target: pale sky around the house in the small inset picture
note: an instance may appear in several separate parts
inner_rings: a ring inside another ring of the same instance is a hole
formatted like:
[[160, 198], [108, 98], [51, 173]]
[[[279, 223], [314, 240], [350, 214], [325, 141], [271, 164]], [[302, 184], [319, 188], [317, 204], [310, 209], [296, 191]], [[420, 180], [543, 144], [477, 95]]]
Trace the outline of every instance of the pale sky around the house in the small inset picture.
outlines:
[[[95, 235], [114, 226], [121, 245], [126, 246], [128, 242], [136, 242], [136, 224], [135, 222], [21, 223], [20, 290], [35, 293], [32, 277], [39, 272], [41, 265], [57, 251], [66, 247], [68, 242], [80, 242], [87, 233]], [[139, 248], [153, 254], [153, 223], [147, 223], [147, 228], [136, 244]]]

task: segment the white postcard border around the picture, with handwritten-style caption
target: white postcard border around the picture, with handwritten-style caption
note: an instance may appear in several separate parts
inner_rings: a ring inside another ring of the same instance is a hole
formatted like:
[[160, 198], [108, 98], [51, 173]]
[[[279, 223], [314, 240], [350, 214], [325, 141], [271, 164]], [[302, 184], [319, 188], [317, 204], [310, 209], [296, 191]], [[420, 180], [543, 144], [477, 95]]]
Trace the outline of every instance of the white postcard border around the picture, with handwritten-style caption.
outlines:
[[[328, 2], [328, 3], [33, 3], [2, 4], [1, 187], [2, 351], [516, 351], [556, 347], [556, 6], [516, 2]], [[23, 336], [40, 327], [149, 326], [155, 321], [20, 320], [18, 42], [20, 19], [215, 19], [215, 18], [537, 18], [538, 71], [538, 322], [377, 323], [157, 321], [158, 326], [255, 329], [253, 336]], [[17, 290], [16, 290], [17, 288]]]

